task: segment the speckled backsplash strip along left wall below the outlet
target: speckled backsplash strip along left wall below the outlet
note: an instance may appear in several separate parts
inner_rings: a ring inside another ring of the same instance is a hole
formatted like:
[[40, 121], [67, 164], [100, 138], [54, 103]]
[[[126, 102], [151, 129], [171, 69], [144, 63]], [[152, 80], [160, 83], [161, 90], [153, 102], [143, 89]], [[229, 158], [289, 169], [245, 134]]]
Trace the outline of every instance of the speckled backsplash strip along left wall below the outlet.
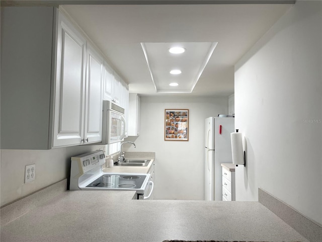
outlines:
[[1, 225], [4, 226], [29, 211], [39, 207], [41, 204], [51, 200], [57, 195], [66, 191], [67, 179], [62, 179], [57, 183], [40, 189], [24, 198], [18, 199], [10, 204], [7, 204], [0, 209]]

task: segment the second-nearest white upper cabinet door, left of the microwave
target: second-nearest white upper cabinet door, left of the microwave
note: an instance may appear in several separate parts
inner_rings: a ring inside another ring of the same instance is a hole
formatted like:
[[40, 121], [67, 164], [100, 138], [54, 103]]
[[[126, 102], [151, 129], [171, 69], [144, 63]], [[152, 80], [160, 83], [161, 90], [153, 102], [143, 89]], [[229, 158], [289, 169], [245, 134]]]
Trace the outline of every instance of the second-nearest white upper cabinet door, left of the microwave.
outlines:
[[86, 112], [84, 143], [102, 141], [103, 57], [87, 46]]

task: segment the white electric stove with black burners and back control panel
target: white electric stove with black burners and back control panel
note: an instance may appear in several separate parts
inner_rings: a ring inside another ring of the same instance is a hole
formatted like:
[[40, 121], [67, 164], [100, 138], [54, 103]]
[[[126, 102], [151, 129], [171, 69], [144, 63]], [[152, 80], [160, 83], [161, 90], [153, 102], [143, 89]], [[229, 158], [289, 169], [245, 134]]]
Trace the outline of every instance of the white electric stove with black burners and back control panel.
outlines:
[[152, 183], [150, 174], [107, 173], [104, 164], [102, 150], [71, 157], [69, 190], [127, 190], [136, 191], [137, 199], [149, 197], [144, 194]]

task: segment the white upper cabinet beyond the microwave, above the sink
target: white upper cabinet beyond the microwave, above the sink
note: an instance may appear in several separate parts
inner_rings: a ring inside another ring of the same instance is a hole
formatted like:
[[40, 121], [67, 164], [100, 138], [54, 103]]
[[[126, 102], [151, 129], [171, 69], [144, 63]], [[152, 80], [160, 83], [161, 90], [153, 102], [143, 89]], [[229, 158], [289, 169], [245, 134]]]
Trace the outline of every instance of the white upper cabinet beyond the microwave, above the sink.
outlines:
[[128, 136], [140, 135], [140, 107], [140, 96], [138, 94], [129, 94]]

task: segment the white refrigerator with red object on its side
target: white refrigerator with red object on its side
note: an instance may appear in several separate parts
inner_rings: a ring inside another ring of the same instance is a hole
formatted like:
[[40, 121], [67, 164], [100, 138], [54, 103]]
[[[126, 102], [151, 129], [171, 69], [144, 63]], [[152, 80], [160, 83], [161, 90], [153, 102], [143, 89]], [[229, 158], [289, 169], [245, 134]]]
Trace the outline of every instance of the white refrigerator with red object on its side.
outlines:
[[205, 200], [222, 201], [221, 163], [232, 163], [230, 133], [234, 117], [205, 120]]

